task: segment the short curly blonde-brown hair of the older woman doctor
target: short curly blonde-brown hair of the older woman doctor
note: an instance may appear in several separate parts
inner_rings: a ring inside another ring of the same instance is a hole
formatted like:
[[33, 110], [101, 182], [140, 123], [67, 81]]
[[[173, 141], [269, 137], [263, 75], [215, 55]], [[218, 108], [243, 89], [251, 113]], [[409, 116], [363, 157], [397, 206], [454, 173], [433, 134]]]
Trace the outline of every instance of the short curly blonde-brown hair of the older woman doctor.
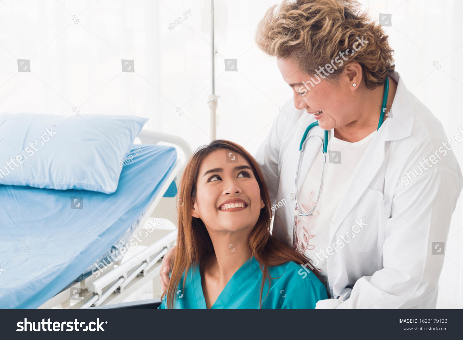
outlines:
[[301, 71], [314, 75], [318, 67], [334, 66], [339, 52], [364, 37], [368, 43], [353, 55], [346, 54], [348, 60], [341, 65], [336, 62], [337, 69], [331, 67], [327, 79], [337, 81], [346, 63], [355, 61], [362, 66], [367, 88], [382, 86], [394, 71], [394, 50], [381, 25], [370, 22], [359, 6], [355, 0], [284, 0], [278, 8], [270, 7], [259, 22], [257, 46], [272, 57], [294, 60]]

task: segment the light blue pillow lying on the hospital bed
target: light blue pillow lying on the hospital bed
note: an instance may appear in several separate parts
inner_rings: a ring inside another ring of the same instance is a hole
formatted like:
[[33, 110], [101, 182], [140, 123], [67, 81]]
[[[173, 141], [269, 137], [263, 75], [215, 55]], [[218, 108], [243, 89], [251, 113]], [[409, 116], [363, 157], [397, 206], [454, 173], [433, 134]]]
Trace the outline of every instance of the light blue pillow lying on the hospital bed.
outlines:
[[148, 119], [103, 114], [0, 114], [0, 184], [111, 194]]

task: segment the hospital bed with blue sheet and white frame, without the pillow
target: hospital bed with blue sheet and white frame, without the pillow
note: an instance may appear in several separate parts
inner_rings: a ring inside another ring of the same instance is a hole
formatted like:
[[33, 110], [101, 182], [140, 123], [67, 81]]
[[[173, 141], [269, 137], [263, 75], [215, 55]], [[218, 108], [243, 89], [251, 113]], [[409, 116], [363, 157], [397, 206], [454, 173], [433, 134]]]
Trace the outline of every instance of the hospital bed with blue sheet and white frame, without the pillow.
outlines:
[[[120, 303], [157, 281], [176, 239], [176, 184], [191, 148], [142, 130], [116, 192], [0, 186], [0, 308], [76, 309]], [[69, 196], [83, 207], [69, 208]]]

